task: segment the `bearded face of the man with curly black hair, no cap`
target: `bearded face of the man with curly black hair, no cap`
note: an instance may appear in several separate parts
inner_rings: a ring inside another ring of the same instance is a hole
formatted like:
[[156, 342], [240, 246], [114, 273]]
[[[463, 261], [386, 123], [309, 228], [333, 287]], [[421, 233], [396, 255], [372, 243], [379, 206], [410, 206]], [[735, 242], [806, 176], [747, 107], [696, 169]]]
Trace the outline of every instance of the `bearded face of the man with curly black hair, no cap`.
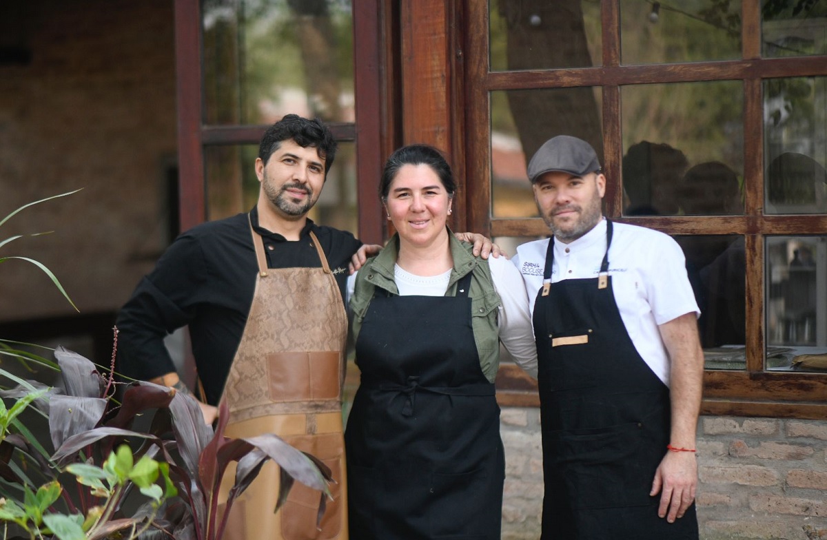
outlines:
[[282, 141], [267, 164], [256, 159], [256, 176], [261, 182], [260, 198], [283, 219], [304, 217], [324, 186], [324, 160], [313, 146], [306, 148], [294, 141]]

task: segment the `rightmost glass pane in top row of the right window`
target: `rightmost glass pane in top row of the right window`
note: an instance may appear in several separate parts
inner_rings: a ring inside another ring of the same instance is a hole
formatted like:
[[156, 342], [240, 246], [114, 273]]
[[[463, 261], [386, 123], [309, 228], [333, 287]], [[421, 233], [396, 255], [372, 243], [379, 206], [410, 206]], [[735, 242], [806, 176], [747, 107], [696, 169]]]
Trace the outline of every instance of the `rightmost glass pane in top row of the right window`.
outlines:
[[761, 31], [767, 58], [827, 55], [827, 4], [763, 2]]

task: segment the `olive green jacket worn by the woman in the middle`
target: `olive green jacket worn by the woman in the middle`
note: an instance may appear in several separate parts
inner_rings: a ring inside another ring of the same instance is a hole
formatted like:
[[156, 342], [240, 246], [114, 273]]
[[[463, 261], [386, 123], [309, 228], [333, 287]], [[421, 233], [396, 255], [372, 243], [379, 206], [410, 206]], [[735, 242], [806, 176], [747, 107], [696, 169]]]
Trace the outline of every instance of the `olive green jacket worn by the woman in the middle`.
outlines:
[[[500, 307], [500, 295], [494, 289], [488, 262], [471, 255], [471, 244], [458, 241], [453, 233], [451, 237], [451, 256], [454, 268], [448, 280], [446, 296], [457, 294], [457, 281], [468, 272], [473, 272], [471, 289], [471, 327], [474, 331], [476, 350], [480, 356], [480, 367], [485, 378], [494, 382], [500, 368], [500, 337], [497, 329], [497, 308]], [[367, 313], [370, 300], [376, 287], [399, 294], [394, 282], [394, 265], [399, 254], [399, 236], [394, 235], [380, 254], [371, 257], [356, 275], [356, 284], [351, 298], [353, 312], [353, 340], [359, 337], [362, 320]]]

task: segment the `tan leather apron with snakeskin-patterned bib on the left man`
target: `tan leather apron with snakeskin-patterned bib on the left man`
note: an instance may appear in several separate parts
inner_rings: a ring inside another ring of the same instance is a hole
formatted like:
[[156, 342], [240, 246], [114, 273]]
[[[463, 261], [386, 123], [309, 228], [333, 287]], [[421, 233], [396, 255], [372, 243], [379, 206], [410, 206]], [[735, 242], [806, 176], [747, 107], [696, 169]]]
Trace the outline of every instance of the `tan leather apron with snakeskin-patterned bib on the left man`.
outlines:
[[[337, 484], [330, 486], [334, 499], [327, 500], [318, 530], [321, 494], [299, 482], [279, 512], [273, 513], [279, 467], [268, 461], [232, 504], [223, 540], [347, 540], [342, 439], [347, 313], [342, 294], [313, 232], [310, 237], [322, 268], [267, 268], [264, 242], [251, 232], [259, 275], [222, 394], [230, 410], [225, 435], [253, 437], [273, 432], [321, 459]], [[222, 482], [222, 502], [235, 478], [232, 465]]]

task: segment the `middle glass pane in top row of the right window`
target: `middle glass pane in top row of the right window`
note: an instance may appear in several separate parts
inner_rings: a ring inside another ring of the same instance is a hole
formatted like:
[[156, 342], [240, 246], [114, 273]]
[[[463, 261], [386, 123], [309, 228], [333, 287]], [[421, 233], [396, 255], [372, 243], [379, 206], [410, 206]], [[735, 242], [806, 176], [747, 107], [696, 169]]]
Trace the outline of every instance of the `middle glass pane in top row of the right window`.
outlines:
[[741, 58], [741, 2], [620, 0], [623, 64]]

